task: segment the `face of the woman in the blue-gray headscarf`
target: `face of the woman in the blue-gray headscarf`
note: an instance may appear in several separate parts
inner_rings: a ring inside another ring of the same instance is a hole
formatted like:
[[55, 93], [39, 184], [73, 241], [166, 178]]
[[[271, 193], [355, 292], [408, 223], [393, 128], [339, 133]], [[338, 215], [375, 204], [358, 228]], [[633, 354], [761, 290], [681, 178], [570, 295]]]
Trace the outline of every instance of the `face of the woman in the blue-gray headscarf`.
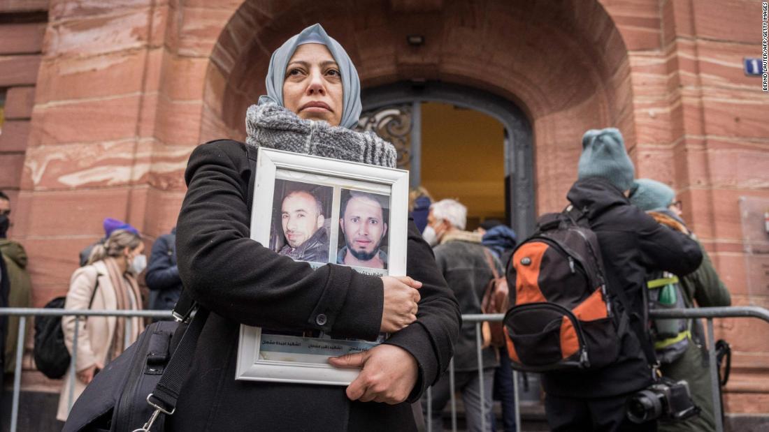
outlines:
[[342, 111], [339, 66], [325, 45], [299, 45], [286, 66], [283, 104], [299, 118], [339, 126]]

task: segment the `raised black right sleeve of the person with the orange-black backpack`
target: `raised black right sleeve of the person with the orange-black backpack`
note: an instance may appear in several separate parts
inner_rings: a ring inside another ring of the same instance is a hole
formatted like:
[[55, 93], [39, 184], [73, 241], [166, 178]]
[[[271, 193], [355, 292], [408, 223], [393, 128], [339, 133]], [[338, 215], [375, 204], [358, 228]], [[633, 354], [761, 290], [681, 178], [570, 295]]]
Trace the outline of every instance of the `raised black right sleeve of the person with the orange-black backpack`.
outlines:
[[631, 220], [637, 221], [638, 247], [646, 261], [647, 269], [660, 269], [684, 276], [699, 267], [702, 252], [696, 241], [657, 223], [651, 216], [635, 206], [625, 206], [636, 213]]

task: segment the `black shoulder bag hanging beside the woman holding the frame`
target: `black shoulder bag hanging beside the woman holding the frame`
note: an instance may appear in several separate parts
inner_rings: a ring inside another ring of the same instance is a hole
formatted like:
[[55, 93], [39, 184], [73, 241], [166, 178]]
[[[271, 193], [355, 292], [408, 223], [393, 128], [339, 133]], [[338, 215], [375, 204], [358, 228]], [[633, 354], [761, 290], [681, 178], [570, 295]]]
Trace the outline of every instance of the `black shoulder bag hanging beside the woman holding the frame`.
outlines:
[[96, 374], [72, 406], [62, 432], [164, 430], [166, 416], [176, 409], [208, 310], [195, 308], [182, 292], [174, 316], [175, 322], [149, 325]]

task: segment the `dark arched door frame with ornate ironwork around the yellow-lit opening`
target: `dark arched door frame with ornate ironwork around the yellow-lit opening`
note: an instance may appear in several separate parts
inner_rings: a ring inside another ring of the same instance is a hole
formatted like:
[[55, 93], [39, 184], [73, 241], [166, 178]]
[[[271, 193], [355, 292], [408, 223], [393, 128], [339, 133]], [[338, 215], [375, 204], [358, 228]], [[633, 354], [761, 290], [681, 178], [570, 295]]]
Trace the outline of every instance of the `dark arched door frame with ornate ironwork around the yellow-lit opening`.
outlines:
[[[504, 190], [504, 219], [519, 235], [534, 227], [534, 156], [531, 146], [531, 124], [523, 111], [511, 101], [460, 84], [442, 82], [399, 82], [365, 89], [362, 94], [364, 112], [361, 128], [374, 130], [396, 147], [401, 167], [411, 172], [411, 186], [422, 182], [423, 167], [430, 161], [422, 158], [422, 111], [424, 104], [437, 102], [493, 117], [501, 124], [501, 160], [488, 155], [486, 166], [468, 167], [484, 170], [501, 165], [504, 173], [498, 181]], [[394, 126], [393, 126], [394, 125]], [[471, 146], [472, 143], [465, 143]], [[478, 163], [478, 159], [475, 160]], [[493, 215], [495, 216], [495, 215]]]

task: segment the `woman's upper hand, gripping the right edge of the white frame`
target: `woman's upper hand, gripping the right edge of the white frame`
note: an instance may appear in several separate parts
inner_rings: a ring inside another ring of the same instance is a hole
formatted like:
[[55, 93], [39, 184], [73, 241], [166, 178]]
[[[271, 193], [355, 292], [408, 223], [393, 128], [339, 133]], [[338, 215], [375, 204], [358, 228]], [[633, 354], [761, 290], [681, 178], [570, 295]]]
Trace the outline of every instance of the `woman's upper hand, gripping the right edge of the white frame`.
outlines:
[[394, 333], [417, 320], [417, 303], [421, 296], [418, 289], [422, 282], [408, 276], [382, 276], [384, 307], [382, 308], [382, 333]]

